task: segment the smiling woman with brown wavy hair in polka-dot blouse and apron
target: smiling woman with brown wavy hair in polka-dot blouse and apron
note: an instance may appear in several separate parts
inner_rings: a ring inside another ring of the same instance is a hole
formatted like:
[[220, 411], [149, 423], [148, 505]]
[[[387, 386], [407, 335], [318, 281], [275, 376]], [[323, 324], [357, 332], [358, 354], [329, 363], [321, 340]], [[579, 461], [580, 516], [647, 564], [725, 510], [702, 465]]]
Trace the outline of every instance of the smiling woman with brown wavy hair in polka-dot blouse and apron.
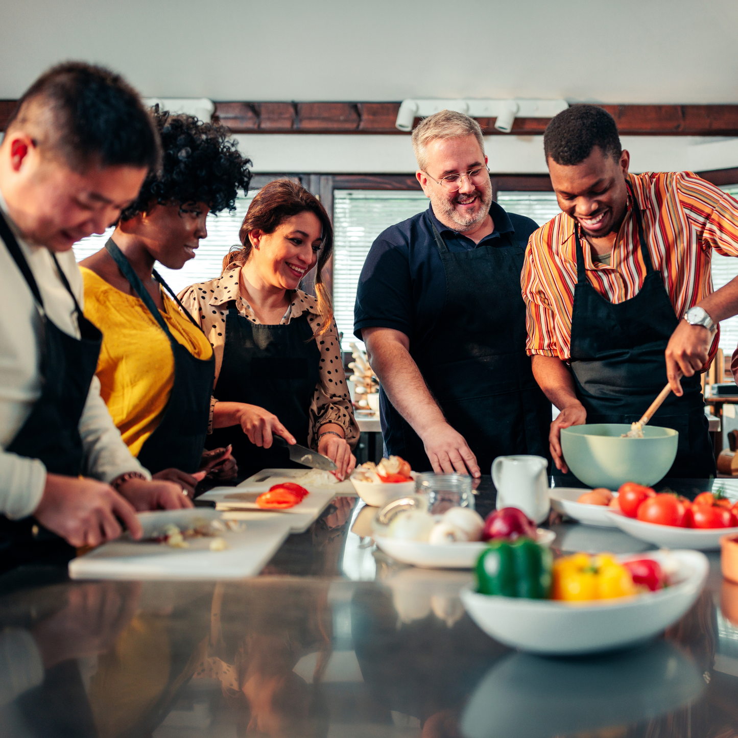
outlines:
[[[220, 277], [179, 295], [215, 351], [213, 433], [232, 445], [239, 477], [292, 466], [280, 435], [331, 458], [339, 479], [356, 463], [359, 429], [323, 283], [333, 227], [318, 199], [288, 179], [269, 182], [249, 206], [241, 248]], [[317, 268], [313, 297], [298, 289]]]

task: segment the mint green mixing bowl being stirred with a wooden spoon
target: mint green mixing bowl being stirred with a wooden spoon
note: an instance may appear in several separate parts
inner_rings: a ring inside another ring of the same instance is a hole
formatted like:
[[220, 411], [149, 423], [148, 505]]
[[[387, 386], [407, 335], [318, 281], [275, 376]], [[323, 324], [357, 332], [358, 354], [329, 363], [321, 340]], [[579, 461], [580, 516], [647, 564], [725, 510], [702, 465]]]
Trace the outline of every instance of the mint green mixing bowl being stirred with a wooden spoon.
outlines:
[[644, 438], [621, 438], [630, 425], [598, 423], [562, 428], [561, 449], [571, 472], [590, 487], [618, 489], [625, 482], [652, 485], [677, 458], [679, 433], [644, 427]]

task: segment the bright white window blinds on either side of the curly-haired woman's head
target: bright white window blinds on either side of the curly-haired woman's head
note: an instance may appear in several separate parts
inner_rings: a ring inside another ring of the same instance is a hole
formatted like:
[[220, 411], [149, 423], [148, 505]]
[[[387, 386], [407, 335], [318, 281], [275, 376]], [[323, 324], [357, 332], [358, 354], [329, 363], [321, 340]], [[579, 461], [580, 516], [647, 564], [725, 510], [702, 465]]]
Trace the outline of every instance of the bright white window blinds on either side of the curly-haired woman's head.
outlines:
[[[204, 282], [220, 275], [223, 257], [231, 246], [239, 244], [238, 230], [257, 191], [249, 192], [246, 197], [239, 197], [236, 200], [235, 212], [229, 213], [226, 210], [218, 215], [207, 216], [207, 238], [200, 241], [195, 258], [187, 261], [182, 269], [167, 269], [159, 263], [156, 264], [156, 271], [162, 275], [175, 294], [190, 284]], [[113, 228], [108, 228], [103, 235], [92, 235], [78, 241], [74, 246], [77, 261], [102, 249], [113, 231]]]

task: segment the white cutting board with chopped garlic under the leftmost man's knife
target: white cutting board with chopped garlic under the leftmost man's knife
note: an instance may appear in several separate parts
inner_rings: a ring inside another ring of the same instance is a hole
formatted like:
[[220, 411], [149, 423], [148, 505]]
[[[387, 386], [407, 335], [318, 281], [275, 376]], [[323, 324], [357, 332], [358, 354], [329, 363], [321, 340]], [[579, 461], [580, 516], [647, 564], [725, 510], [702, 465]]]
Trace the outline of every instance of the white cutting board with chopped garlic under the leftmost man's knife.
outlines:
[[[207, 508], [142, 512], [138, 518], [144, 538], [165, 525], [188, 528], [193, 520], [224, 517]], [[284, 517], [265, 517], [241, 523], [242, 531], [221, 534], [228, 548], [210, 551], [212, 538], [190, 539], [188, 548], [121, 538], [69, 562], [72, 579], [243, 579], [256, 576], [289, 536]]]

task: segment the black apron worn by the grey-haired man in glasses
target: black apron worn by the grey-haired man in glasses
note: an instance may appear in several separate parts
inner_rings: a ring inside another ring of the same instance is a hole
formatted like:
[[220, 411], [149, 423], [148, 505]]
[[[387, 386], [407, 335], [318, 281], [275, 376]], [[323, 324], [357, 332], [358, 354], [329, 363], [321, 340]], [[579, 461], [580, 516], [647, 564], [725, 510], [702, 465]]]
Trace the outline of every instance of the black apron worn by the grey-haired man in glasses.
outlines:
[[[430, 216], [427, 216], [430, 217]], [[520, 272], [525, 249], [504, 234], [496, 244], [450, 252], [430, 222], [446, 274], [446, 305], [418, 365], [446, 421], [463, 435], [482, 474], [497, 456], [548, 452], [551, 402], [525, 354]], [[499, 245], [497, 245], [499, 244]], [[386, 436], [387, 452], [417, 472], [432, 469], [423, 441], [380, 390], [382, 415], [402, 434]]]

